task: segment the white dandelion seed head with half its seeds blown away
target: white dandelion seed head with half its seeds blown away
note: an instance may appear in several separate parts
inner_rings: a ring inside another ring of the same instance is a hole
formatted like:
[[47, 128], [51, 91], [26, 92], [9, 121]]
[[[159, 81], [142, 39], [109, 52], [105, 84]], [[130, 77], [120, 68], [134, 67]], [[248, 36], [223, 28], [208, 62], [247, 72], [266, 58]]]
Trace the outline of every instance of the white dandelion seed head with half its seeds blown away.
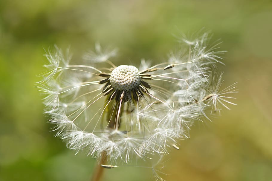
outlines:
[[[48, 51], [48, 71], [38, 87], [46, 94], [45, 113], [56, 136], [96, 158], [100, 168], [179, 149], [177, 141], [208, 117], [206, 109], [220, 113], [220, 106], [234, 104], [229, 94], [235, 84], [221, 90], [222, 74], [217, 81], [212, 77], [224, 51], [218, 44], [209, 47], [207, 39], [206, 33], [194, 41], [183, 38], [187, 46], [156, 65], [142, 59], [139, 66], [116, 66], [109, 59], [117, 50], [103, 51], [99, 44], [83, 56], [84, 64], [57, 47]], [[161, 179], [157, 172], [155, 179]]]

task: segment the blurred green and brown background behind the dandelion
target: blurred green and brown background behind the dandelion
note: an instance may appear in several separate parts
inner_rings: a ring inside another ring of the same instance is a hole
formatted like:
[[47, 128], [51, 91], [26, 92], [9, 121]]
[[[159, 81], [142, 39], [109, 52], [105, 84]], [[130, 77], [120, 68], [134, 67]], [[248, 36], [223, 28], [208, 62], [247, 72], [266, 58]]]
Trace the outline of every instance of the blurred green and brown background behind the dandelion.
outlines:
[[[196, 123], [172, 150], [168, 181], [272, 180], [272, 1], [0, 1], [0, 181], [89, 180], [94, 160], [76, 156], [49, 132], [42, 96], [44, 49], [71, 46], [74, 58], [103, 47], [118, 60], [163, 61], [174, 35], [205, 27], [221, 38], [224, 85], [238, 82], [238, 106]], [[135, 63], [137, 64], [137, 63]], [[152, 180], [140, 167], [105, 171], [104, 180]]]

